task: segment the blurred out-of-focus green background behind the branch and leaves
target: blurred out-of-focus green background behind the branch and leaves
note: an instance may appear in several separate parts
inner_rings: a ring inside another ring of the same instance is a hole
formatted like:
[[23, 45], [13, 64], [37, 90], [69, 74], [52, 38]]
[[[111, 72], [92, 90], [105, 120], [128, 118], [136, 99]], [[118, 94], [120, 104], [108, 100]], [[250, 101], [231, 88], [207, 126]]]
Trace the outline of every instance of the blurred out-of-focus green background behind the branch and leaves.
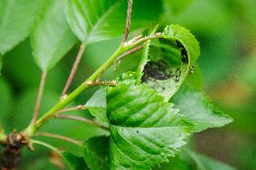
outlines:
[[[178, 23], [196, 35], [201, 46], [198, 62], [203, 72], [206, 94], [220, 110], [233, 117], [233, 123], [224, 128], [197, 134], [192, 139], [192, 145], [198, 152], [238, 169], [256, 169], [256, 1], [186, 0], [186, 8], [171, 0], [167, 2], [169, 3], [166, 3], [167, 10], [162, 16], [161, 24]], [[72, 89], [109, 57], [120, 40], [117, 38], [87, 46]], [[78, 48], [79, 44], [50, 71], [41, 112], [46, 112], [59, 100]], [[41, 76], [40, 69], [32, 59], [30, 40], [23, 40], [5, 54], [3, 63], [0, 110], [2, 115], [8, 116], [2, 116], [1, 120], [5, 120], [3, 124], [9, 131], [13, 128], [23, 130], [31, 120]], [[119, 72], [121, 71], [109, 73], [106, 78], [118, 75]], [[80, 95], [75, 103], [86, 103], [93, 92], [94, 89], [91, 89]], [[85, 112], [80, 114], [86, 115]], [[44, 130], [77, 139], [104, 133], [94, 127], [70, 121], [52, 121]], [[78, 130], [78, 133], [73, 130]], [[66, 145], [58, 140], [50, 142]], [[74, 146], [69, 145], [68, 148], [76, 152]], [[43, 150], [37, 155], [40, 156], [41, 153], [47, 155]], [[32, 154], [25, 151], [24, 158], [30, 157]], [[44, 164], [41, 159], [37, 160], [37, 169], [50, 169], [50, 165]], [[29, 167], [33, 168], [35, 164]]]

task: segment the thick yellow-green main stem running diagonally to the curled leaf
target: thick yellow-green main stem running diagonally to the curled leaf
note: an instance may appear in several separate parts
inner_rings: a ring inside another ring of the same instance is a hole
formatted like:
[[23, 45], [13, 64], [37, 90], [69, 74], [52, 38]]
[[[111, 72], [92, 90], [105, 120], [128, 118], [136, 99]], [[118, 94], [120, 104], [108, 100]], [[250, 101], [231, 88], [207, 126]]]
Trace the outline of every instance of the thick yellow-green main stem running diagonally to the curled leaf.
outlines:
[[89, 76], [87, 80], [82, 84], [79, 85], [77, 89], [75, 89], [71, 94], [67, 95], [63, 100], [60, 100], [59, 103], [56, 103], [55, 106], [53, 106], [49, 112], [46, 112], [41, 119], [36, 121], [36, 123], [30, 124], [27, 129], [25, 130], [26, 133], [29, 136], [32, 136], [36, 133], [36, 130], [38, 130], [41, 125], [47, 121], [50, 121], [55, 115], [56, 112], [58, 113], [59, 110], [64, 108], [68, 103], [70, 103], [73, 99], [75, 99], [79, 94], [81, 94], [85, 89], [87, 89], [90, 86], [93, 86], [92, 82], [95, 82], [96, 80], [99, 79], [99, 77], [105, 72], [105, 70], [109, 67], [111, 67], [114, 64], [114, 61], [116, 58], [121, 56], [123, 52], [133, 49], [134, 47], [142, 44], [146, 40], [152, 40], [152, 39], [159, 39], [161, 37], [160, 33], [144, 37], [140, 40], [137, 40], [135, 42], [125, 42], [124, 44], [122, 43], [118, 49], [114, 51], [114, 54], [108, 58], [105, 63], [99, 67], [94, 74]]

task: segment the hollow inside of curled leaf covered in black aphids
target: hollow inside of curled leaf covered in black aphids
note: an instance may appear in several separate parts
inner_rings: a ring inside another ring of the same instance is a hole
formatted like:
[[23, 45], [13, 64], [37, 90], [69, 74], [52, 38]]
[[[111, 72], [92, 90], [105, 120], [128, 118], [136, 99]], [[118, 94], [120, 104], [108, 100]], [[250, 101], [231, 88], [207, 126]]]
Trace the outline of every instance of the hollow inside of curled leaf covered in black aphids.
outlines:
[[169, 96], [178, 86], [182, 65], [187, 65], [187, 62], [183, 62], [183, 58], [186, 58], [183, 55], [184, 49], [177, 41], [152, 41], [148, 53], [149, 61], [143, 69], [142, 83], [156, 89], [169, 100]]

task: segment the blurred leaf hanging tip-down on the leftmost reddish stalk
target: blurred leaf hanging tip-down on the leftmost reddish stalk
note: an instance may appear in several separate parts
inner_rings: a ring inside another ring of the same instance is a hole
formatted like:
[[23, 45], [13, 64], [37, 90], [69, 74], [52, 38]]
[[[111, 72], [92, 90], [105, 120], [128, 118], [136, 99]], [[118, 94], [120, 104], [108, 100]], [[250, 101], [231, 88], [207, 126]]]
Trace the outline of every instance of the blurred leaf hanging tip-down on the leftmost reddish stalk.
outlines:
[[54, 67], [78, 41], [66, 21], [65, 1], [46, 0], [32, 31], [32, 54], [42, 71]]

